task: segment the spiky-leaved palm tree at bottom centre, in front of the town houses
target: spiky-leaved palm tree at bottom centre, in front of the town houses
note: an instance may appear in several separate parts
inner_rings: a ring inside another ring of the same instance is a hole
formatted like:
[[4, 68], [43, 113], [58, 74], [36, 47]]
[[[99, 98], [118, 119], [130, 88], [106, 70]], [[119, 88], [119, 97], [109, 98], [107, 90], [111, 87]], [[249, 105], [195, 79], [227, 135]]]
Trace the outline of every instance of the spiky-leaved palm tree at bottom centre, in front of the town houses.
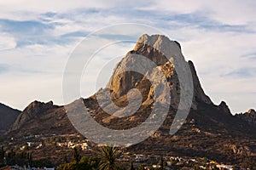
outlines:
[[99, 155], [102, 158], [102, 163], [99, 170], [116, 170], [117, 158], [121, 155], [121, 151], [114, 145], [105, 145], [100, 148]]

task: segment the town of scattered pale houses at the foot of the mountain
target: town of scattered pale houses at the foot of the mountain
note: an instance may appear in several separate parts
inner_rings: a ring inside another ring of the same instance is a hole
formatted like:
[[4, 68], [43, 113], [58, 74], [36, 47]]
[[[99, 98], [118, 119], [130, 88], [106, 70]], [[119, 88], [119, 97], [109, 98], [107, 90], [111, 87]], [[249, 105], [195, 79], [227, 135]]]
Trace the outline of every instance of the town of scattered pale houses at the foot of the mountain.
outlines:
[[[67, 134], [62, 136], [42, 136], [40, 134], [37, 135], [28, 135], [24, 136], [23, 139], [15, 139], [14, 137], [10, 139], [9, 146], [14, 146], [14, 148], [22, 151], [31, 151], [31, 153], [35, 153], [34, 150], [40, 150], [42, 147], [53, 147], [61, 149], [61, 150], [71, 150], [78, 151], [80, 157], [82, 156], [92, 156], [96, 157], [96, 148], [102, 147], [102, 145], [94, 144], [90, 142], [89, 139], [79, 139], [79, 135]], [[79, 140], [78, 140], [79, 139]], [[20, 144], [22, 141], [23, 144]], [[24, 142], [26, 141], [26, 142]], [[132, 166], [135, 169], [220, 169], [220, 170], [235, 170], [242, 169], [247, 170], [249, 168], [244, 168], [238, 165], [230, 165], [225, 164], [223, 162], [218, 162], [214, 160], [210, 160], [207, 157], [189, 157], [189, 156], [162, 156], [154, 153], [150, 154], [141, 154], [141, 153], [130, 153], [125, 151], [125, 149], [120, 148], [121, 151], [120, 156], [117, 158], [117, 162], [124, 169]], [[17, 151], [18, 152], [18, 151]], [[23, 165], [12, 165], [9, 164], [8, 156], [9, 152], [5, 154], [7, 157], [3, 158], [2, 168], [1, 170], [36, 170], [36, 169], [44, 169], [44, 170], [54, 170], [58, 169], [57, 165], [53, 165], [52, 167], [44, 167], [43, 164], [40, 167], [35, 167], [30, 165], [30, 162], [27, 161], [26, 164]], [[61, 156], [60, 156], [61, 157]], [[67, 159], [67, 158], [66, 158]], [[70, 161], [73, 161], [72, 159]], [[59, 168], [60, 169], [60, 168]]]

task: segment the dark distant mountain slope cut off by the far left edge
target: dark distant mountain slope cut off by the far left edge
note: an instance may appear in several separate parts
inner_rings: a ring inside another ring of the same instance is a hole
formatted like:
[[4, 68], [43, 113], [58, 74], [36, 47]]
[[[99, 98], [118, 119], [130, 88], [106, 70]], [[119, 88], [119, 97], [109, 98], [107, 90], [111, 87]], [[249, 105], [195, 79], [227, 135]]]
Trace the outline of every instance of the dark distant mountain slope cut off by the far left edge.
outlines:
[[19, 115], [20, 111], [0, 103], [0, 135], [9, 130]]

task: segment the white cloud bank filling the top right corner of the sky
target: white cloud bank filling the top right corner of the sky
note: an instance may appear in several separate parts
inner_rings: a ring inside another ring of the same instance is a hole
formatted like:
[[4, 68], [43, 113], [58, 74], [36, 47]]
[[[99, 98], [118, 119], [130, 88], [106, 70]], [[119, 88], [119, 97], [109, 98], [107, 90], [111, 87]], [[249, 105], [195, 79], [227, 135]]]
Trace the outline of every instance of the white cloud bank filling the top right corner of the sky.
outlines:
[[227, 25], [246, 25], [251, 22], [255, 23], [255, 8], [254, 1], [239, 0], [227, 1], [153, 1], [151, 6], [142, 7], [139, 9], [154, 11], [161, 14], [193, 14], [201, 13], [207, 18], [216, 20]]

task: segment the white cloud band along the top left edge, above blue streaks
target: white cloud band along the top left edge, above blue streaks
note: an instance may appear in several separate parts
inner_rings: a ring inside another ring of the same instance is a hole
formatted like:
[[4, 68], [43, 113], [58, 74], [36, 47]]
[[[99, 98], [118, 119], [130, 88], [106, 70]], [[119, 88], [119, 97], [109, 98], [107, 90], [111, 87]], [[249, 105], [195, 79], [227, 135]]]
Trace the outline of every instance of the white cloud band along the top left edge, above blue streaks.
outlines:
[[82, 0], [67, 1], [63, 3], [61, 0], [44, 2], [35, 2], [31, 0], [10, 0], [8, 2], [0, 2], [0, 16], [9, 20], [37, 20], [40, 14], [45, 13], [67, 13], [67, 11], [78, 8], [108, 8], [111, 3], [106, 1], [90, 1]]

